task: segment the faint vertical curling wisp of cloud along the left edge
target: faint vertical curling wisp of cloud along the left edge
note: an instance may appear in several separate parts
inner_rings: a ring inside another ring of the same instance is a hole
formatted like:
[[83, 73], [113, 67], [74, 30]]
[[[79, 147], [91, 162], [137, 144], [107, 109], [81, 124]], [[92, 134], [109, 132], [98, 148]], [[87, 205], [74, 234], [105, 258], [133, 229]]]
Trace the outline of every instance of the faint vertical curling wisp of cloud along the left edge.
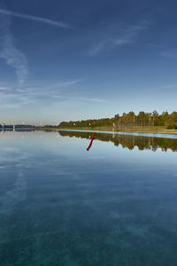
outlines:
[[19, 84], [22, 84], [27, 78], [27, 58], [15, 47], [10, 24], [9, 16], [0, 12], [0, 59], [15, 69]]

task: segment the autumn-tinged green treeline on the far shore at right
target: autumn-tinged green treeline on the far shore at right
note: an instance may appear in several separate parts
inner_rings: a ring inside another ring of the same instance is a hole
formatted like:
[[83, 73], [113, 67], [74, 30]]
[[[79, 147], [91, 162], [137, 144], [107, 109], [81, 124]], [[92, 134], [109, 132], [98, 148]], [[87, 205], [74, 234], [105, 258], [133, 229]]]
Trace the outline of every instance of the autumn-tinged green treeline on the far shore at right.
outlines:
[[157, 111], [152, 113], [140, 112], [137, 115], [134, 112], [123, 113], [121, 116], [116, 114], [113, 118], [90, 119], [86, 121], [62, 121], [59, 128], [127, 128], [127, 127], [144, 127], [144, 126], [164, 126], [166, 129], [177, 129], [177, 112]]

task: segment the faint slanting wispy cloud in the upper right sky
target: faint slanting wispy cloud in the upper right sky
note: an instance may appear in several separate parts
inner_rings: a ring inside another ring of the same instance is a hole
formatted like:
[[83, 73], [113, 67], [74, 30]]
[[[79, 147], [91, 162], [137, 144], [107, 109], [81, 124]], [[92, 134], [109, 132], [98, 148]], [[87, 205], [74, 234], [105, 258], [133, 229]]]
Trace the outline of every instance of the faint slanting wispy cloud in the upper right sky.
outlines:
[[135, 37], [141, 34], [148, 26], [149, 22], [145, 20], [137, 25], [126, 27], [119, 36], [116, 33], [113, 35], [110, 32], [107, 34], [104, 33], [104, 36], [101, 37], [102, 40], [90, 49], [89, 56], [94, 57], [106, 49], [109, 50], [118, 46], [134, 43]]

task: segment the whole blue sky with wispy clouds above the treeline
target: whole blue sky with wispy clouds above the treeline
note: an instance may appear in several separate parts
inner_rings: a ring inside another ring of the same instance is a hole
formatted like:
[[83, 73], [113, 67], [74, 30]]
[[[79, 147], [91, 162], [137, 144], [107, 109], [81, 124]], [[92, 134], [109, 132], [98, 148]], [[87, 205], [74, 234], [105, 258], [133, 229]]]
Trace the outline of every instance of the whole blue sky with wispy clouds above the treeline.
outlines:
[[4, 0], [0, 121], [176, 111], [177, 3]]

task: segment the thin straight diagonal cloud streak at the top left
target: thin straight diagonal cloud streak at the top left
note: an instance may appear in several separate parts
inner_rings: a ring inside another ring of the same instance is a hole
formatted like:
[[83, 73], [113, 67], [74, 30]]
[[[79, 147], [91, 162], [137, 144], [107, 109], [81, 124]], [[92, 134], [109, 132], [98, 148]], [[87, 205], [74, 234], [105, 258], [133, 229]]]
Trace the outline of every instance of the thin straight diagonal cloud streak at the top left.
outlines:
[[58, 21], [55, 21], [55, 20], [49, 20], [49, 19], [46, 19], [46, 18], [35, 17], [35, 16], [27, 15], [27, 14], [20, 14], [18, 12], [11, 12], [11, 11], [7, 11], [7, 10], [4, 10], [4, 9], [0, 9], [0, 13], [2, 13], [4, 15], [11, 15], [13, 17], [21, 18], [21, 19], [25, 19], [25, 20], [33, 20], [35, 22], [48, 24], [50, 26], [72, 28], [70, 25], [68, 25], [68, 24], [66, 24], [64, 22], [58, 22]]

